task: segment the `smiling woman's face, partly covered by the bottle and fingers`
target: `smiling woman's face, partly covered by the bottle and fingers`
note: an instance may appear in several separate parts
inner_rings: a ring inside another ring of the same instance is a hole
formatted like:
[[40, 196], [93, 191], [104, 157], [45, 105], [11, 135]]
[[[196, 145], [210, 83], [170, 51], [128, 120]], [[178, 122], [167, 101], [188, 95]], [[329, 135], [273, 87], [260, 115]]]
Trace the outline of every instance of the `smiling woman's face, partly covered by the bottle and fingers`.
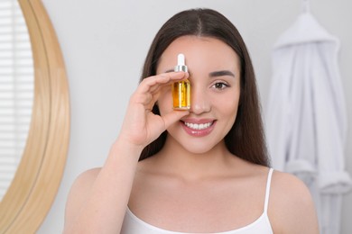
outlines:
[[[204, 153], [225, 138], [236, 120], [239, 58], [221, 40], [183, 36], [162, 53], [157, 74], [173, 70], [180, 53], [190, 73], [190, 114], [168, 128], [168, 140], [175, 140], [190, 152]], [[171, 86], [165, 88], [158, 105], [161, 115], [173, 111]]]

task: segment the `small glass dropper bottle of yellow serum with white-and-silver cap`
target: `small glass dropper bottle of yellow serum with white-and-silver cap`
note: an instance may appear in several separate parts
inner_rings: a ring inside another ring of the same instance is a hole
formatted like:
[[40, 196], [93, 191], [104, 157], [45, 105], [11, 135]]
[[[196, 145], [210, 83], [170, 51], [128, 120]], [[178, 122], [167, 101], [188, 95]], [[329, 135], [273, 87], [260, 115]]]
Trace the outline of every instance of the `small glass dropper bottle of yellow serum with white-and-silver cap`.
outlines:
[[[183, 54], [178, 55], [174, 71], [188, 72]], [[188, 79], [173, 83], [171, 92], [174, 110], [190, 110], [190, 81]]]

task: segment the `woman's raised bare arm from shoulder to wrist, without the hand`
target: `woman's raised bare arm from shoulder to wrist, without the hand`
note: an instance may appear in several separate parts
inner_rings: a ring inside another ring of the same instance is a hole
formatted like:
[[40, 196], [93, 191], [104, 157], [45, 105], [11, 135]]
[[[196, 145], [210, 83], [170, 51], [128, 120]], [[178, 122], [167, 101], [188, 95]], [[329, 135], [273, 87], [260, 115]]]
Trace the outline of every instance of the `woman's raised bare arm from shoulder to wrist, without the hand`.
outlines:
[[64, 233], [119, 233], [140, 151], [117, 141], [101, 169], [79, 175], [69, 193]]

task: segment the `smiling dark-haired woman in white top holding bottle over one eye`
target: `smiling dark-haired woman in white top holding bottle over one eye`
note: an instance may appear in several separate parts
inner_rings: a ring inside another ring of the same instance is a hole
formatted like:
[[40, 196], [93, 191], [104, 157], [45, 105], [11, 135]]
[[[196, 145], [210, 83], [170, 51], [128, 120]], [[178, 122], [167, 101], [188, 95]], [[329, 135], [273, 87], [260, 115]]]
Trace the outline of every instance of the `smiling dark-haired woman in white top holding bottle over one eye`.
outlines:
[[[173, 72], [178, 54], [188, 72]], [[190, 110], [171, 84], [189, 79]], [[73, 184], [65, 233], [319, 233], [310, 193], [269, 168], [255, 74], [235, 26], [208, 9], [157, 33], [102, 168]]]

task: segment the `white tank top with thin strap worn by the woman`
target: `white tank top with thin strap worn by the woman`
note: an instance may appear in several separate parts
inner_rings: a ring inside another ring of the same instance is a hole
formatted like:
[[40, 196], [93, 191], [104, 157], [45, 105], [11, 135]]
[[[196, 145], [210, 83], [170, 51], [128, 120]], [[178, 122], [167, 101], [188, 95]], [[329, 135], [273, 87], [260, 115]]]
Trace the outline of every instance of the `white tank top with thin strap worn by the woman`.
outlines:
[[[252, 223], [246, 225], [245, 227], [239, 229], [233, 229], [223, 232], [217, 232], [219, 234], [273, 234], [273, 229], [270, 224], [268, 217], [268, 203], [270, 195], [270, 184], [272, 181], [273, 168], [270, 168], [265, 190], [265, 200], [264, 200], [264, 211], [262, 215], [253, 221]], [[127, 208], [125, 212], [125, 220], [122, 225], [121, 234], [185, 234], [187, 232], [177, 232], [166, 229], [160, 229], [144, 220], [139, 219], [134, 215], [132, 211]]]

